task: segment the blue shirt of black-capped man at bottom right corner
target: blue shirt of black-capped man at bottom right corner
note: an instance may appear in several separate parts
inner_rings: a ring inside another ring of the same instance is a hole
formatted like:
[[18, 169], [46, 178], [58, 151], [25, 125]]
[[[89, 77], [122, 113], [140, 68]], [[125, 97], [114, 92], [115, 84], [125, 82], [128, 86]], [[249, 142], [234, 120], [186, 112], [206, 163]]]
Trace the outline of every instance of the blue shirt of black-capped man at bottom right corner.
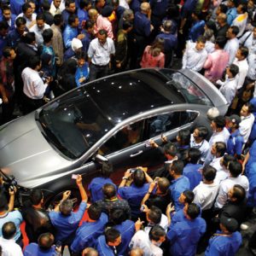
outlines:
[[[218, 231], [217, 234], [223, 234]], [[241, 234], [236, 231], [231, 236], [213, 236], [205, 256], [234, 256], [241, 246]]]

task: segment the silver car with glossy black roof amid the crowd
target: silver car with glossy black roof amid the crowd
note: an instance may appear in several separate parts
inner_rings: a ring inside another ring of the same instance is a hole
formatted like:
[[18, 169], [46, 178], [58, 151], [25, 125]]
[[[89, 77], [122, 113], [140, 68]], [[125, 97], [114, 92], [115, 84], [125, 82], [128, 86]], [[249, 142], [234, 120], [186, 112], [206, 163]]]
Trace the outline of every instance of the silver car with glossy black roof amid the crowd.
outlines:
[[109, 160], [113, 179], [128, 167], [163, 163], [149, 138], [160, 143], [183, 128], [207, 124], [207, 110], [228, 108], [219, 91], [189, 70], [138, 69], [85, 84], [43, 108], [0, 128], [0, 166], [26, 188], [49, 197], [76, 189], [72, 174], [84, 183], [96, 177], [99, 160]]

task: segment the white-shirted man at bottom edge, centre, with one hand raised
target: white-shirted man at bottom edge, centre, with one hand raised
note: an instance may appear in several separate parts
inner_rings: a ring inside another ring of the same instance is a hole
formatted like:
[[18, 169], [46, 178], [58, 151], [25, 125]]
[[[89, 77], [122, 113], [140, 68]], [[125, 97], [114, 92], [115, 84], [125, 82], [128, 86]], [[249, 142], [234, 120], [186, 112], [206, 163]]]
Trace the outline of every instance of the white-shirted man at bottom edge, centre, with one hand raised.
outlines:
[[163, 251], [160, 245], [166, 240], [166, 231], [160, 226], [155, 225], [147, 234], [144, 230], [141, 230], [143, 222], [138, 219], [135, 223], [136, 233], [131, 238], [129, 247], [139, 247], [143, 249], [144, 255], [147, 256], [162, 256]]

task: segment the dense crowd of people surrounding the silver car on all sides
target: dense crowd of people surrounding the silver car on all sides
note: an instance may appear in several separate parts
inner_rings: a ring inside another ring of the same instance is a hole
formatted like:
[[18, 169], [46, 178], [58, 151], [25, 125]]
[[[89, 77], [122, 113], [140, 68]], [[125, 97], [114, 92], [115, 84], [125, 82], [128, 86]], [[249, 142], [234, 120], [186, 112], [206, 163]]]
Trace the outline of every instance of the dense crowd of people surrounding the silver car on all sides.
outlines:
[[[166, 157], [157, 172], [131, 168], [115, 184], [111, 163], [102, 163], [90, 196], [79, 175], [75, 211], [70, 191], [49, 211], [39, 189], [14, 210], [15, 189], [1, 177], [0, 254], [61, 255], [67, 246], [73, 256], [235, 255], [256, 202], [254, 1], [0, 3], [2, 124], [87, 81], [173, 60], [229, 103], [226, 116], [213, 108], [209, 123], [175, 141], [150, 141]], [[248, 248], [256, 255], [256, 233]]]

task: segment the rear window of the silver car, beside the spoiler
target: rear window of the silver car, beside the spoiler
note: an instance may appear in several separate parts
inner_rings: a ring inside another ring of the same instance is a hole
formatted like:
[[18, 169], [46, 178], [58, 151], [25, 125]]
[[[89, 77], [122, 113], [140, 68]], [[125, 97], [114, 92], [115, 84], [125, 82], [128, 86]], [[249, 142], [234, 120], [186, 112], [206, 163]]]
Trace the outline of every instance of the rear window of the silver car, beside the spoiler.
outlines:
[[173, 72], [170, 69], [161, 69], [160, 72], [168, 77], [169, 81], [166, 84], [175, 88], [185, 98], [186, 102], [212, 106], [212, 102], [207, 95], [182, 73]]

